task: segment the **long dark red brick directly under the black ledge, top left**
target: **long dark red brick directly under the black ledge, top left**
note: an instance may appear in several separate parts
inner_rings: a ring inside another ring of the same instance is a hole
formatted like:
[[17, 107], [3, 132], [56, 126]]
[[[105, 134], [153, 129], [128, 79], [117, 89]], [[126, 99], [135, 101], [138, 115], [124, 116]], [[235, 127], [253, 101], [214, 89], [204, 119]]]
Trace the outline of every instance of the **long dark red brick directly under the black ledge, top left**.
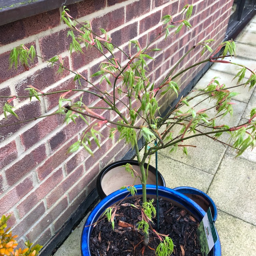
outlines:
[[[0, 46], [29, 37], [59, 24], [59, 10], [40, 13], [0, 26]], [[11, 32], [10, 32], [11, 31]]]

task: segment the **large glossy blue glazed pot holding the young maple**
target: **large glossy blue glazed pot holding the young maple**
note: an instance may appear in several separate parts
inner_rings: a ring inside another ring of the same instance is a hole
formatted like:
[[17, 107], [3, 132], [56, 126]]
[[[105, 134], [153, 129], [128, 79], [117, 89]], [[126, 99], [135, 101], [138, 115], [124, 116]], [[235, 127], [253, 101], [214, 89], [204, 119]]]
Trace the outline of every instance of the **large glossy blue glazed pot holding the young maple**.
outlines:
[[[142, 186], [136, 185], [137, 195], [142, 195]], [[88, 216], [81, 237], [81, 253], [82, 256], [90, 256], [90, 249], [89, 249], [89, 240], [90, 234], [93, 229], [91, 224], [98, 221], [101, 217], [102, 213], [105, 211], [106, 208], [112, 206], [113, 204], [122, 200], [125, 196], [127, 196], [128, 191], [126, 189], [117, 190], [110, 194], [109, 196], [105, 197], [102, 201], [100, 201], [93, 211]], [[182, 193], [175, 191], [171, 188], [158, 186], [158, 194], [159, 197], [166, 198], [171, 200], [175, 205], [181, 207], [188, 212], [190, 212], [196, 219], [199, 221], [202, 220], [203, 216], [205, 215], [205, 211], [193, 200], [188, 198], [187, 196], [183, 195]], [[155, 185], [147, 185], [147, 196], [154, 197], [156, 195], [156, 186]], [[129, 196], [130, 197], [130, 196]], [[218, 236], [218, 234], [217, 234]], [[215, 243], [214, 247], [210, 253], [211, 256], [221, 256], [221, 243], [219, 242], [219, 238]]]

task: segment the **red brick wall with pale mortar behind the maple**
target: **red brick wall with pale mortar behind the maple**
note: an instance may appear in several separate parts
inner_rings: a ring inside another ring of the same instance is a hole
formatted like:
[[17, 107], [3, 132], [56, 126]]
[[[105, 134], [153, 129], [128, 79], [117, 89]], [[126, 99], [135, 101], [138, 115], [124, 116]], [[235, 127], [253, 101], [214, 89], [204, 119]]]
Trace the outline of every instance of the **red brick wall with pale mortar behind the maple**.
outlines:
[[[186, 3], [194, 4], [190, 19], [193, 29], [182, 29], [178, 35], [164, 36], [154, 43], [163, 51], [156, 52], [155, 61], [148, 66], [150, 77], [156, 84], [165, 77], [173, 66], [196, 42], [214, 38], [213, 47], [222, 42], [229, 20], [231, 0], [99, 0], [81, 1], [68, 6], [73, 17], [92, 20], [93, 29], [105, 28], [112, 42], [127, 50], [129, 39], [139, 39], [142, 47], [146, 45], [162, 26], [161, 16], [176, 15]], [[27, 85], [33, 85], [45, 93], [53, 90], [76, 88], [73, 75], [65, 71], [56, 75], [56, 69], [47, 66], [42, 59], [36, 59], [29, 70], [19, 67], [8, 68], [8, 59], [13, 47], [21, 43], [34, 45], [38, 55], [51, 58], [61, 54], [65, 65], [78, 70], [86, 77], [99, 66], [99, 54], [89, 49], [85, 55], [78, 56], [68, 52], [69, 39], [67, 27], [60, 23], [61, 9], [48, 11], [24, 18], [0, 27], [0, 95], [25, 95]], [[196, 48], [180, 64], [192, 65], [200, 60], [200, 48]], [[125, 60], [124, 55], [117, 55]], [[203, 67], [200, 67], [203, 68]], [[181, 89], [195, 77], [200, 68], [194, 68], [177, 79]], [[95, 79], [93, 79], [94, 82]], [[84, 86], [87, 86], [85, 84]], [[101, 86], [106, 85], [102, 84]], [[72, 97], [78, 97], [79, 94]], [[45, 96], [42, 104], [38, 101], [20, 98], [12, 103], [19, 120], [8, 116], [5, 120], [0, 110], [0, 125], [20, 122], [57, 110], [58, 97]], [[173, 97], [159, 99], [165, 109]], [[2, 108], [6, 98], [0, 98]], [[85, 98], [85, 104], [101, 106], [95, 97]], [[113, 120], [112, 113], [101, 112]], [[95, 156], [91, 157], [83, 149], [67, 155], [68, 147], [83, 131], [84, 125], [62, 124], [63, 116], [52, 115], [47, 118], [0, 127], [0, 215], [12, 213], [10, 224], [20, 239], [29, 239], [45, 245], [61, 228], [63, 223], [77, 209], [81, 202], [95, 188], [96, 176], [108, 163], [121, 159], [129, 149], [123, 143], [108, 138], [108, 127], [102, 128], [101, 150], [94, 146]]]

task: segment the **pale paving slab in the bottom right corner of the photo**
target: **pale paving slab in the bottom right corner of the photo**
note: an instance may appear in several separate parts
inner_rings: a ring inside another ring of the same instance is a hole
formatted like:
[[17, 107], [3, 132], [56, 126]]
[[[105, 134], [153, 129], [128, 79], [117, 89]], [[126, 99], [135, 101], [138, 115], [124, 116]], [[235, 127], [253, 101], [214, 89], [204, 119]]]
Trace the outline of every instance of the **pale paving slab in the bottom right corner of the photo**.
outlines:
[[256, 252], [256, 227], [218, 211], [216, 229], [221, 241], [222, 256], [247, 256]]

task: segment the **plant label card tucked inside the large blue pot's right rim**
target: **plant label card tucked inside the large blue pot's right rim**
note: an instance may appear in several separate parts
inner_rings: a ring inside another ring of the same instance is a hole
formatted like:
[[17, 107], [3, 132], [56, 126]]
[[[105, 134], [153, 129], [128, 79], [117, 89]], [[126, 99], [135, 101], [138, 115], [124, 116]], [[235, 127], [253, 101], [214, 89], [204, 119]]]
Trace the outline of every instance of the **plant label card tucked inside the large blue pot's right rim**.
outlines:
[[210, 208], [207, 210], [199, 224], [197, 235], [199, 238], [202, 256], [206, 256], [218, 240]]

